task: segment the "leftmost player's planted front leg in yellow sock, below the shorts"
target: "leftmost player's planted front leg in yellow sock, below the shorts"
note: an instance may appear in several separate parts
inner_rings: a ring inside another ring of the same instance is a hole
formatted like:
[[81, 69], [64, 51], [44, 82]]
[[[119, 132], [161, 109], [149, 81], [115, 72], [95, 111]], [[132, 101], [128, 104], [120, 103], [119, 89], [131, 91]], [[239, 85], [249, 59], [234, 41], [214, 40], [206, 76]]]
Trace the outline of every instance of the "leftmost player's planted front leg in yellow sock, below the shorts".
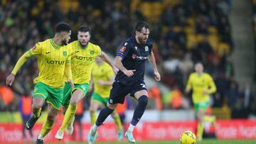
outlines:
[[58, 109], [55, 108], [52, 104], [48, 103], [48, 115], [46, 121], [43, 123], [41, 133], [39, 134], [36, 143], [43, 143], [43, 138], [49, 133], [53, 124], [55, 122], [55, 117], [57, 116]]

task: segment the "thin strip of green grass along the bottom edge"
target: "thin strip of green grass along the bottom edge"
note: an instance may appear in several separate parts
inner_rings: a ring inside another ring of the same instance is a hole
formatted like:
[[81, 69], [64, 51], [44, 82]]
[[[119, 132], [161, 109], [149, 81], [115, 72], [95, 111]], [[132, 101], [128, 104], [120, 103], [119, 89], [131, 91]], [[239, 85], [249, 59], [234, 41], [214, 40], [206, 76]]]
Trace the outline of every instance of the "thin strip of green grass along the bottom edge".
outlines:
[[[69, 142], [70, 144], [85, 144], [85, 142]], [[97, 142], [94, 144], [130, 144], [128, 142]], [[68, 143], [51, 143], [51, 144], [68, 144]], [[181, 144], [179, 141], [142, 141], [136, 144]], [[255, 140], [217, 140], [217, 139], [206, 139], [201, 142], [196, 142], [196, 144], [256, 144]]]

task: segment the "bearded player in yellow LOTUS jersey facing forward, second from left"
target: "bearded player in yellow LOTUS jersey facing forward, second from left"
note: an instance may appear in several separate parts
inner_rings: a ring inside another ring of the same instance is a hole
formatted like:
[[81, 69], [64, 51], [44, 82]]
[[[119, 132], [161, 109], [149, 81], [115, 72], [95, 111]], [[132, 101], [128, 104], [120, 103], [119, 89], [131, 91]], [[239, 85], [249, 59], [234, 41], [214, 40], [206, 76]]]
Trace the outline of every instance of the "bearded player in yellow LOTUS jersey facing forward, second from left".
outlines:
[[80, 26], [78, 29], [78, 40], [68, 44], [73, 50], [71, 57], [71, 69], [75, 89], [71, 89], [69, 84], [65, 84], [63, 89], [63, 110], [65, 113], [62, 126], [55, 135], [58, 140], [63, 139], [64, 131], [68, 135], [73, 133], [73, 121], [78, 102], [85, 96], [89, 89], [92, 65], [95, 62], [95, 57], [102, 57], [107, 62], [114, 72], [117, 68], [114, 67], [110, 58], [105, 52], [102, 52], [98, 45], [90, 43], [91, 30], [88, 26]]

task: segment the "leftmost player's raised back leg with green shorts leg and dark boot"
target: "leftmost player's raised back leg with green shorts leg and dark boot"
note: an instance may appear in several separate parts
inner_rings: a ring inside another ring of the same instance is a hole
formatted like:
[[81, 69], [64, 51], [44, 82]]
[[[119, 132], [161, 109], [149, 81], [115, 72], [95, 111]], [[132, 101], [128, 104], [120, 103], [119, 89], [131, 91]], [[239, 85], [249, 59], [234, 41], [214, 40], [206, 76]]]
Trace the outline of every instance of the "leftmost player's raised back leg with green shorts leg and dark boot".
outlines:
[[38, 82], [34, 88], [32, 99], [32, 116], [26, 122], [26, 129], [30, 130], [35, 125], [38, 118], [41, 116], [41, 107], [44, 104], [45, 99], [48, 97], [48, 86], [42, 82]]

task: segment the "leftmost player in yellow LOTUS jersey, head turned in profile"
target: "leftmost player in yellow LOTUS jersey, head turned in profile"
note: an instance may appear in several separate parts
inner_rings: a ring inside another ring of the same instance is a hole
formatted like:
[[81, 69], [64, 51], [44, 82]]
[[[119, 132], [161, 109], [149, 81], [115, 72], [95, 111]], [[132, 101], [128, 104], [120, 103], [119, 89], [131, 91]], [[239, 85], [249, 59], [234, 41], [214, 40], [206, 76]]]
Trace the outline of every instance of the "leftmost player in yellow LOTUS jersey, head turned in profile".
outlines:
[[67, 46], [68, 40], [70, 40], [71, 28], [68, 23], [58, 23], [55, 31], [54, 38], [36, 43], [33, 48], [25, 52], [18, 59], [14, 70], [6, 78], [6, 84], [11, 86], [23, 63], [33, 56], [37, 57], [39, 74], [34, 79], [36, 85], [33, 92], [33, 115], [26, 122], [26, 128], [33, 128], [41, 116], [41, 107], [46, 101], [48, 103], [48, 116], [36, 140], [38, 144], [43, 143], [43, 138], [52, 128], [55, 116], [62, 104], [64, 76], [67, 77], [70, 87], [73, 87], [70, 68], [71, 52]]

